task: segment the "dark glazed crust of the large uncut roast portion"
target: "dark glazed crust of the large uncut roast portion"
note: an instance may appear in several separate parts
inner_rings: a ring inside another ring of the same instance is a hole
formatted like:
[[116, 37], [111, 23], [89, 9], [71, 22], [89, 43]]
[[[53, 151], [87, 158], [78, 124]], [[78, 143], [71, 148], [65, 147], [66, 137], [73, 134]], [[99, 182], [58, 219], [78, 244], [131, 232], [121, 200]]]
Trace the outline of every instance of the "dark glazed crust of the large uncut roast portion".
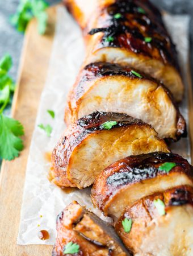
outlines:
[[[90, 18], [87, 18], [95, 19], [92, 24], [86, 20], [84, 11], [78, 8], [75, 1], [64, 2], [82, 28], [86, 31], [93, 29], [90, 31], [91, 35], [95, 34], [97, 29], [104, 33], [97, 48], [125, 48], [127, 51], [173, 65], [179, 71], [175, 45], [163, 24], [160, 11], [149, 1], [116, 0], [107, 4], [107, 1], [103, 1], [103, 4], [98, 1], [98, 8], [93, 14], [95, 18], [91, 17], [91, 14]], [[140, 13], [139, 7], [145, 13]], [[121, 14], [119, 19], [114, 18], [117, 13]], [[113, 36], [114, 41], [107, 42], [108, 36]], [[145, 43], [146, 37], [152, 37], [153, 40]]]

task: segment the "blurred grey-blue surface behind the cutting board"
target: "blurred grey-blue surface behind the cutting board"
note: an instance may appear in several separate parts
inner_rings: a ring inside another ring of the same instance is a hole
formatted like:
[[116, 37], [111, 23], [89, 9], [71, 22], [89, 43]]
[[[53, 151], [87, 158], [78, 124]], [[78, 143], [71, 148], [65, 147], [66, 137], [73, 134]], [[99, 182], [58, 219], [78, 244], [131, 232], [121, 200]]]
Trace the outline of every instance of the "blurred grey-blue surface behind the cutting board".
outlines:
[[[91, 0], [87, 0], [91, 1]], [[173, 14], [190, 14], [190, 47], [193, 46], [193, 0], [151, 0], [156, 6]], [[60, 2], [47, 0], [49, 4]], [[19, 57], [22, 51], [23, 35], [19, 34], [9, 24], [9, 17], [18, 6], [19, 0], [0, 0], [0, 57], [9, 52], [14, 61], [10, 71], [11, 76], [16, 80]], [[191, 67], [193, 67], [193, 51], [191, 51]], [[193, 78], [193, 76], [192, 76]]]

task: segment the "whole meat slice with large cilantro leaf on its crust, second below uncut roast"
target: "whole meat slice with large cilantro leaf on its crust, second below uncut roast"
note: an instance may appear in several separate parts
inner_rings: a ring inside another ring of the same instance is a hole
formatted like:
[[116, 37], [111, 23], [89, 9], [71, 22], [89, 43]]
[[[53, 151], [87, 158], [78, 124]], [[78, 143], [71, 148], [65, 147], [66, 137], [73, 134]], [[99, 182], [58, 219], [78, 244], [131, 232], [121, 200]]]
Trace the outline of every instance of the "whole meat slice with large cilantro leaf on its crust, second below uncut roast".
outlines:
[[94, 112], [68, 127], [52, 153], [51, 175], [61, 187], [89, 187], [109, 164], [143, 152], [169, 152], [156, 131], [127, 114]]

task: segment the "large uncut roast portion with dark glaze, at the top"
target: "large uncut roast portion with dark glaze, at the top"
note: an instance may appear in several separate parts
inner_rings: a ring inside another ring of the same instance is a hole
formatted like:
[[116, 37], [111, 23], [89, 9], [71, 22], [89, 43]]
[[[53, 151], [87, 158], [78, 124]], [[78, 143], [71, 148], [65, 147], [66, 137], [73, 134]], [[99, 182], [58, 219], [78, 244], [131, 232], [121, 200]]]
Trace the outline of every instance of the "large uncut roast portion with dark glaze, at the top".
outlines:
[[177, 51], [160, 11], [148, 0], [64, 2], [84, 29], [85, 65], [108, 61], [139, 69], [162, 81], [175, 100], [182, 100]]

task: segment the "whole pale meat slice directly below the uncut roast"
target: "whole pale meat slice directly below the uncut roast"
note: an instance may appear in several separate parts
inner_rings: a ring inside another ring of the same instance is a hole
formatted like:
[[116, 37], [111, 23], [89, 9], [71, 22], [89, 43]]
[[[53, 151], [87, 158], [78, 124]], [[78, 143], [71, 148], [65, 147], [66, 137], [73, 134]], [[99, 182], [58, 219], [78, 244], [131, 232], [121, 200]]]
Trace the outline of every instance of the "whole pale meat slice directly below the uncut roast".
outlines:
[[96, 109], [118, 112], [149, 123], [160, 138], [186, 136], [186, 122], [170, 92], [158, 81], [131, 68], [111, 63], [87, 65], [69, 94], [65, 121], [68, 125]]

